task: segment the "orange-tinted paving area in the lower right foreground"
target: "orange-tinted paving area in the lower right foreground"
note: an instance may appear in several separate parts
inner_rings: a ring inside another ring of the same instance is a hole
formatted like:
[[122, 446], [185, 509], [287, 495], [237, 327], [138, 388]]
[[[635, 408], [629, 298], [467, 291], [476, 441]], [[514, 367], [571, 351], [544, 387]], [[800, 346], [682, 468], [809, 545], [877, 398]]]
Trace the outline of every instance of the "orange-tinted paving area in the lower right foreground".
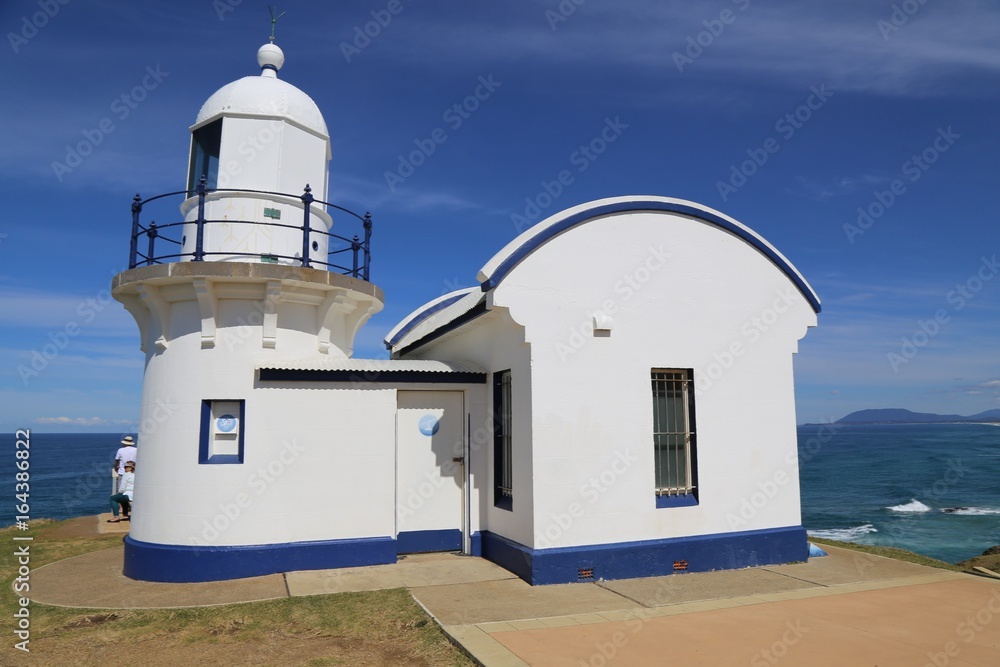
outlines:
[[[813, 667], [995, 666], [1000, 664], [1000, 626], [983, 623], [975, 636], [956, 633], [970, 615], [985, 620], [983, 610], [993, 595], [969, 581], [490, 636], [528, 665], [545, 667], [779, 661]], [[934, 599], [948, 602], [938, 605]], [[927, 613], [927, 605], [934, 613]]]

